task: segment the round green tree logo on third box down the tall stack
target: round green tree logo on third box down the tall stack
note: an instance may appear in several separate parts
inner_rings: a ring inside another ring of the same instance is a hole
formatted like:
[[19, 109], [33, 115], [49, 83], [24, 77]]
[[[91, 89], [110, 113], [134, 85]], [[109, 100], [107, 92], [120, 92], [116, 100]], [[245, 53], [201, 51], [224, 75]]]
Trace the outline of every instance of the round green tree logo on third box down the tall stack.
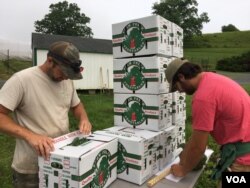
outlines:
[[129, 97], [124, 105], [126, 111], [124, 112], [125, 120], [131, 125], [137, 126], [145, 121], [145, 113], [143, 111], [146, 104], [138, 97]]

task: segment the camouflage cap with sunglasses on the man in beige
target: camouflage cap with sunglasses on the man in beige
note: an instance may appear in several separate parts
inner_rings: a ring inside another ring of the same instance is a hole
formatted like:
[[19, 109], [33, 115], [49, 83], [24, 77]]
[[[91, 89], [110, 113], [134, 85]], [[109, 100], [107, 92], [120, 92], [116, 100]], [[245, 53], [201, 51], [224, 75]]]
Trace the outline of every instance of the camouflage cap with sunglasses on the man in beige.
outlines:
[[71, 80], [82, 79], [82, 61], [79, 50], [70, 42], [58, 41], [51, 44], [48, 52], [62, 72]]

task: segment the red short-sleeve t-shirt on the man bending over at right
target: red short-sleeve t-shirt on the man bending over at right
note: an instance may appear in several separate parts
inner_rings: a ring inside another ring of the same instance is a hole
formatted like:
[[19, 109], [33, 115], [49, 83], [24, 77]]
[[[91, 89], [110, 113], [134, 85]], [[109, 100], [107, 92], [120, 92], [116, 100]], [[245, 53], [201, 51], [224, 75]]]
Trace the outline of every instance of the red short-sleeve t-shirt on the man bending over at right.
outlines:
[[[192, 126], [208, 131], [220, 144], [250, 142], [250, 96], [233, 80], [202, 73], [192, 100]], [[237, 158], [250, 165], [250, 154]]]

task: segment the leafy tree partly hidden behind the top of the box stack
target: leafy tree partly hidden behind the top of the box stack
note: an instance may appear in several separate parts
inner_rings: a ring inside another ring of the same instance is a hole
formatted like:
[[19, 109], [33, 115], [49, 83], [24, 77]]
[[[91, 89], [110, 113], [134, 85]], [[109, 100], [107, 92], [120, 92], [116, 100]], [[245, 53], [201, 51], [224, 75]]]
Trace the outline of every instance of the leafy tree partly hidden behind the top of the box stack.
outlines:
[[203, 23], [209, 22], [206, 12], [198, 15], [196, 0], [162, 0], [154, 3], [153, 14], [158, 14], [183, 29], [184, 40], [201, 35]]

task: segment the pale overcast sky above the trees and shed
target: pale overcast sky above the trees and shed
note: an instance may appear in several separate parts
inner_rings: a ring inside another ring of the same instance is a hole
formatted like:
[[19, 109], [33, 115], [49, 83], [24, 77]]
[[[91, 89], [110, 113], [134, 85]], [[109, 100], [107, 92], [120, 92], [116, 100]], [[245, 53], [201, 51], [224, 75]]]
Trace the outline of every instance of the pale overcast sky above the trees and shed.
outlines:
[[[1, 0], [0, 39], [31, 43], [34, 22], [49, 13], [49, 5], [59, 0]], [[152, 14], [158, 0], [68, 0], [90, 17], [94, 38], [111, 39], [111, 24]], [[199, 14], [207, 12], [210, 22], [203, 33], [221, 32], [223, 25], [250, 30], [250, 0], [197, 0]]]

